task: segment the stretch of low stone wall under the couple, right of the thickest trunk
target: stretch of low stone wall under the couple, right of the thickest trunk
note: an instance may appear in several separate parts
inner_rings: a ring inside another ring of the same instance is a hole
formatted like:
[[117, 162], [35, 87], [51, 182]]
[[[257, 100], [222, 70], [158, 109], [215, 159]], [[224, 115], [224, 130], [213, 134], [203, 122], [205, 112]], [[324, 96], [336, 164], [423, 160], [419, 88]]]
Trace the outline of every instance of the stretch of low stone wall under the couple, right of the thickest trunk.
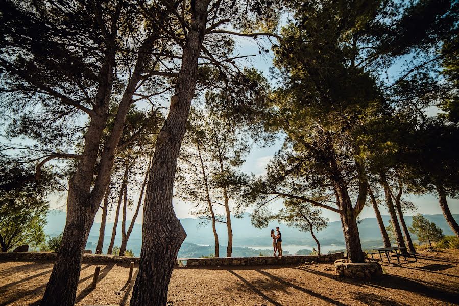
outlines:
[[188, 258], [187, 267], [194, 266], [244, 266], [244, 265], [285, 265], [298, 264], [304, 262], [329, 262], [333, 263], [337, 259], [345, 258], [343, 253], [324, 254], [320, 258], [316, 255], [294, 255], [294, 256], [259, 256], [259, 257], [218, 257], [218, 258]]

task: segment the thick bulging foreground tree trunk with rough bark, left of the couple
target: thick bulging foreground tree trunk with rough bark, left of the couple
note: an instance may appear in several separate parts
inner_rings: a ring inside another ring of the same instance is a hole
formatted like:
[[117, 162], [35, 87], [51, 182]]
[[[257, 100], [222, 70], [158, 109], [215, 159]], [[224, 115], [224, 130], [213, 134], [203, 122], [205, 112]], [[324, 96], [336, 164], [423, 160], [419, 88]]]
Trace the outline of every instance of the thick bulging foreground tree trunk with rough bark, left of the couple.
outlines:
[[165, 305], [172, 269], [186, 233], [172, 207], [177, 158], [196, 88], [209, 0], [191, 2], [182, 65], [169, 114], [158, 134], [143, 213], [142, 250], [131, 306]]

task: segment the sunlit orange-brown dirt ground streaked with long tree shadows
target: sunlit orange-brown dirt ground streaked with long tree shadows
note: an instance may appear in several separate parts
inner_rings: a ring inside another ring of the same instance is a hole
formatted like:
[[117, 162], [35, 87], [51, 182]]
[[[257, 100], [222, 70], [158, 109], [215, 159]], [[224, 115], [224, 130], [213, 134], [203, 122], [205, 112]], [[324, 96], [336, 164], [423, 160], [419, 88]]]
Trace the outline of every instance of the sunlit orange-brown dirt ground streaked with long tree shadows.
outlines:
[[[134, 281], [128, 266], [84, 264], [77, 305], [129, 305]], [[338, 278], [332, 264], [177, 268], [168, 305], [448, 305], [459, 304], [459, 251], [422, 253], [417, 263], [382, 263], [378, 281]], [[0, 305], [29, 305], [41, 298], [51, 263], [0, 262]], [[135, 269], [135, 274], [136, 276]]]

